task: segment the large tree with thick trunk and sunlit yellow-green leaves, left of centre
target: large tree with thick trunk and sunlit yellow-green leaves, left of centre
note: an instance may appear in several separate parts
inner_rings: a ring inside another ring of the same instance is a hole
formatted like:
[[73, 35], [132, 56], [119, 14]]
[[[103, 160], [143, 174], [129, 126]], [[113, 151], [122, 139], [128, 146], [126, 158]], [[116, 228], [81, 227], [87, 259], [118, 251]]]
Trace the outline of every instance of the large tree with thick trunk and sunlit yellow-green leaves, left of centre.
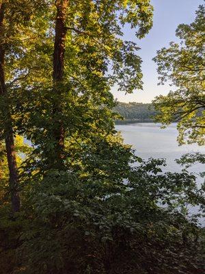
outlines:
[[20, 105], [16, 105], [18, 132], [36, 145], [33, 164], [44, 171], [69, 167], [67, 142], [76, 140], [79, 146], [78, 138], [96, 142], [96, 134], [101, 138], [113, 134], [115, 101], [110, 87], [117, 83], [120, 90], [132, 92], [142, 85], [138, 47], [120, 37], [122, 25], [136, 27], [137, 37], [142, 38], [152, 27], [152, 5], [150, 1], [50, 1], [46, 20], [49, 24], [43, 30], [38, 26], [45, 34], [44, 49], [37, 46], [31, 53], [34, 60], [36, 56], [44, 60], [42, 53], [49, 49], [45, 60], [49, 69], [44, 70], [43, 62], [38, 69], [46, 82], [22, 81], [14, 93]]

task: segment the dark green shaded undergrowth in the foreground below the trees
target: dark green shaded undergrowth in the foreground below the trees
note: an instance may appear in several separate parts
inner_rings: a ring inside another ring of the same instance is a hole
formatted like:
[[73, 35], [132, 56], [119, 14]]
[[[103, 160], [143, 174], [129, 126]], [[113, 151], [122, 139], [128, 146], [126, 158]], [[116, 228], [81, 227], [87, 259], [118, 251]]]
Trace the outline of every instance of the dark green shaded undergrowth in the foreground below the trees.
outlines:
[[126, 184], [68, 171], [35, 181], [20, 273], [202, 273], [203, 230], [185, 213], [201, 203], [195, 176], [161, 173], [163, 160], [138, 161]]

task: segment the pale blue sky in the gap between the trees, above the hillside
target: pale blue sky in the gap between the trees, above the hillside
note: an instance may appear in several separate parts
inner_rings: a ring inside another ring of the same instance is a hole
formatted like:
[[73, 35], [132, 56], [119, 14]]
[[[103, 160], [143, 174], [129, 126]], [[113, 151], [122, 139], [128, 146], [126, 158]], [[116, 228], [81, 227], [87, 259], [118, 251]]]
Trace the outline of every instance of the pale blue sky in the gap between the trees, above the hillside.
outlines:
[[138, 54], [143, 61], [143, 90], [135, 90], [133, 94], [125, 95], [115, 86], [112, 93], [118, 101], [150, 103], [157, 95], [167, 95], [171, 88], [168, 84], [157, 86], [158, 74], [152, 58], [157, 50], [168, 47], [169, 42], [178, 41], [175, 36], [177, 26], [191, 23], [195, 18], [195, 10], [204, 0], [151, 0], [151, 3], [154, 6], [153, 27], [145, 38], [139, 40], [133, 29], [124, 28], [124, 39], [136, 42], [141, 48]]

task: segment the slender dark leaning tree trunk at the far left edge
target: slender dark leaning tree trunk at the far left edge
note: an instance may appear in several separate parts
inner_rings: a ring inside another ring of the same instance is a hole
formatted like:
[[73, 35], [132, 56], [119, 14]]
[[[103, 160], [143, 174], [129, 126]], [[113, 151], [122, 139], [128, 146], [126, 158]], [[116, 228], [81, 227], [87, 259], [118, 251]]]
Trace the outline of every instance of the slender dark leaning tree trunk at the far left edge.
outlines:
[[[5, 12], [5, 3], [0, 4], [0, 36], [3, 36], [3, 18]], [[3, 37], [1, 39], [3, 41]], [[7, 99], [7, 90], [5, 86], [5, 49], [3, 42], [0, 44], [0, 96], [5, 98], [3, 105], [3, 114], [5, 115], [4, 134], [5, 148], [8, 159], [8, 168], [10, 171], [10, 192], [12, 199], [12, 210], [18, 212], [20, 210], [20, 197], [18, 193], [18, 172], [16, 165], [16, 152], [14, 147], [14, 135], [12, 129], [12, 118], [10, 114], [10, 105]]]

